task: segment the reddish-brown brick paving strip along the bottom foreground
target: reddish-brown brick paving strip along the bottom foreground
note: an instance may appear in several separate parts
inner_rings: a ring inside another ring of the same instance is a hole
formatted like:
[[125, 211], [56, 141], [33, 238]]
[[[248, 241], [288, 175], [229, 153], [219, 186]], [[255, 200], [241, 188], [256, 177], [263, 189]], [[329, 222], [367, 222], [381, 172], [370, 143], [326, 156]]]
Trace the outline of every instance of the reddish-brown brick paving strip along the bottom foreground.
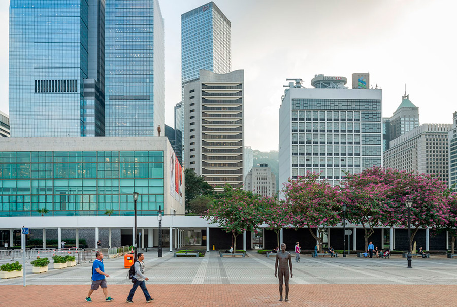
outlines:
[[[1, 286], [2, 306], [84, 306], [89, 286]], [[90, 306], [126, 306], [129, 285], [109, 285], [112, 302], [101, 289]], [[290, 302], [279, 302], [276, 285], [148, 285], [153, 306], [452, 306], [457, 286], [450, 285], [291, 285]], [[135, 305], [146, 305], [141, 289]], [[454, 305], [455, 306], [455, 305]]]

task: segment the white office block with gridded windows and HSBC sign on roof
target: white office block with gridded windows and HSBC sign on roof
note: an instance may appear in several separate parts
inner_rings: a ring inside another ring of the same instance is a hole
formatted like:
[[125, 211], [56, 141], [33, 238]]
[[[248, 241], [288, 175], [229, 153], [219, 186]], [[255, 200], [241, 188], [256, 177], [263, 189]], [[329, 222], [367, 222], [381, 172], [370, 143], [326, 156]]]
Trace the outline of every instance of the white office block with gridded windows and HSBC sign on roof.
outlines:
[[[345, 77], [292, 79], [279, 108], [279, 186], [307, 172], [338, 184], [382, 165], [382, 91], [347, 89]], [[325, 84], [327, 83], [327, 84]]]

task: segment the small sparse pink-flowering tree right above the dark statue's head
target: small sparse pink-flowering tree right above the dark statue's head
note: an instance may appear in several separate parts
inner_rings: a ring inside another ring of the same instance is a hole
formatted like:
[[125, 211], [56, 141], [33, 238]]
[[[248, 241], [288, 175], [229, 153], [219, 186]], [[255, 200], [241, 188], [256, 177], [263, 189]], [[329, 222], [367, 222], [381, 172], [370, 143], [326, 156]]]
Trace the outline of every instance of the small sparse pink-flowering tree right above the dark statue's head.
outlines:
[[287, 203], [279, 201], [277, 197], [262, 197], [259, 199], [259, 204], [262, 207], [263, 221], [267, 224], [265, 229], [273, 230], [276, 233], [277, 246], [279, 247], [279, 232], [290, 224]]

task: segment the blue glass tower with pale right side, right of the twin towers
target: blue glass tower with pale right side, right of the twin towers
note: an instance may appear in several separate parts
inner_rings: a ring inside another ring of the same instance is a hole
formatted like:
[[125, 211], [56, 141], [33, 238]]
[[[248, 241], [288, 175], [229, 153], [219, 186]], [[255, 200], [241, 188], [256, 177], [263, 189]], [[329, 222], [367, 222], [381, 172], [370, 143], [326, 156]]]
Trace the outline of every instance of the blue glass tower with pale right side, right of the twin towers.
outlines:
[[153, 136], [165, 126], [164, 19], [158, 0], [106, 5], [106, 135]]

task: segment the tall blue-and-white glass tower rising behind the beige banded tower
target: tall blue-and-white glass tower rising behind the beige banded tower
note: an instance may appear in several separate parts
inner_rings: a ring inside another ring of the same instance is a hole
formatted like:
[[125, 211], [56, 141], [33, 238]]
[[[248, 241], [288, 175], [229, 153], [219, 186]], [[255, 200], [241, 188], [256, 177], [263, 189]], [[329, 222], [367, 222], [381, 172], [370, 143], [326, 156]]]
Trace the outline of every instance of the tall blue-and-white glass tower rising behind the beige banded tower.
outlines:
[[[209, 2], [181, 15], [181, 85], [199, 79], [201, 69], [216, 74], [232, 70], [232, 23]], [[184, 107], [185, 109], [185, 107]], [[175, 127], [176, 128], [176, 127]], [[185, 138], [183, 131], [182, 140]], [[186, 144], [182, 144], [185, 151]], [[183, 157], [183, 162], [186, 163]]]

